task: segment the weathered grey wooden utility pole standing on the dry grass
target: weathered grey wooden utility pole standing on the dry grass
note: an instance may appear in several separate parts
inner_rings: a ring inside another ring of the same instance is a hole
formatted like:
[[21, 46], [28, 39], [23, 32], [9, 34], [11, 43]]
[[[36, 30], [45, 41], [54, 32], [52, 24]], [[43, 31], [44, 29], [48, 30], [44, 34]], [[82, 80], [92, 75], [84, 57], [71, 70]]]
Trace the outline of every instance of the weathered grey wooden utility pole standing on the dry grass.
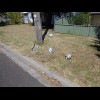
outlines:
[[34, 24], [35, 24], [35, 30], [36, 30], [36, 41], [38, 43], [42, 43], [42, 28], [41, 28], [41, 18], [40, 18], [40, 12], [33, 12], [34, 14]]

